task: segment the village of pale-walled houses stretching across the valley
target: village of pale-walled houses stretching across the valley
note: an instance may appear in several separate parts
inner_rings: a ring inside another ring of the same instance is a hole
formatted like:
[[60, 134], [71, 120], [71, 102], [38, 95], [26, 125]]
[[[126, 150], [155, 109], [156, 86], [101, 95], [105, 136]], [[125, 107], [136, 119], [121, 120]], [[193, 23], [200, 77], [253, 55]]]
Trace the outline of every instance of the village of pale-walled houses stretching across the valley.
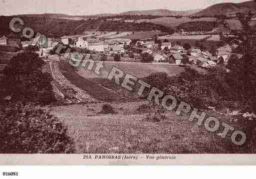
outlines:
[[[220, 30], [220, 29], [217, 29]], [[226, 29], [224, 29], [225, 31]], [[216, 32], [216, 29], [212, 31]], [[24, 50], [28, 47], [38, 47], [38, 51], [42, 51], [42, 56], [49, 55], [50, 49], [58, 43], [67, 45], [77, 51], [83, 52], [88, 50], [91, 54], [89, 60], [94, 61], [122, 61], [122, 62], [148, 62], [186, 65], [194, 64], [199, 67], [209, 68], [215, 67], [216, 64], [228, 64], [229, 58], [232, 56], [232, 50], [235, 49], [240, 41], [233, 40], [230, 44], [216, 49], [200, 46], [198, 42], [220, 40], [219, 34], [203, 34], [188, 35], [181, 30], [179, 33], [172, 35], [155, 31], [148, 32], [101, 32], [91, 31], [80, 35], [65, 35], [61, 38], [46, 38], [45, 43], [39, 44], [39, 40], [30, 39], [28, 41], [20, 41], [20, 39], [0, 37], [0, 51], [16, 52], [20, 49]], [[228, 36], [227, 30], [225, 34]], [[195, 43], [182, 43], [180, 40], [193, 39]], [[198, 44], [198, 46], [197, 46]], [[44, 50], [42, 50], [44, 49]], [[211, 52], [209, 52], [211, 51]], [[242, 57], [241, 54], [239, 58]], [[142, 59], [143, 58], [143, 59]], [[2, 62], [1, 62], [2, 63]]]

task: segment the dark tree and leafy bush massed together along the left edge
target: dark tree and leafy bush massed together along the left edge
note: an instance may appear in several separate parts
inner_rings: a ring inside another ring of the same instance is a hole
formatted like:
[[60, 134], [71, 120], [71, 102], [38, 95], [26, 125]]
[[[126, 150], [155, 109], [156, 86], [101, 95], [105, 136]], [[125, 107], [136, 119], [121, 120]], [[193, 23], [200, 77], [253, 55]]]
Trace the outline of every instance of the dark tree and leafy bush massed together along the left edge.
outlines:
[[27, 52], [4, 68], [0, 93], [0, 153], [73, 153], [67, 128], [42, 106], [55, 103], [44, 61]]

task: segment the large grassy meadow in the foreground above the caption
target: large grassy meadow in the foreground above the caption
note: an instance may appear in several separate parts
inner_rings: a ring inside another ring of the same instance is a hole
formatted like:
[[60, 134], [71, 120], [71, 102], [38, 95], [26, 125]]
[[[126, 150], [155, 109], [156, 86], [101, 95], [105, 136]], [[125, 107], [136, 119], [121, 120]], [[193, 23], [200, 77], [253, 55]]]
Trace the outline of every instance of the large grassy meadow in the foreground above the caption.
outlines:
[[68, 126], [77, 153], [234, 153], [229, 137], [198, 127], [188, 116], [169, 111], [160, 122], [143, 120], [147, 113], [137, 109], [146, 103], [112, 103], [115, 115], [98, 114], [102, 104], [53, 107], [52, 114]]

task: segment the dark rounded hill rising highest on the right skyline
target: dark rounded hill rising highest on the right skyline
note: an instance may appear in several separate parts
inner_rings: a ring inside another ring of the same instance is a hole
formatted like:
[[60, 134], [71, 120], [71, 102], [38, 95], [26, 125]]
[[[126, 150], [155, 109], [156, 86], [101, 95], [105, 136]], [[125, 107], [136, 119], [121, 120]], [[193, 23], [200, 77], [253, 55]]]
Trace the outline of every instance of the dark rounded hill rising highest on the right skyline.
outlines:
[[214, 16], [214, 15], [228, 15], [235, 16], [237, 12], [246, 12], [246, 11], [256, 12], [256, 1], [246, 1], [241, 3], [218, 3], [207, 7], [204, 10], [194, 13], [194, 16]]

